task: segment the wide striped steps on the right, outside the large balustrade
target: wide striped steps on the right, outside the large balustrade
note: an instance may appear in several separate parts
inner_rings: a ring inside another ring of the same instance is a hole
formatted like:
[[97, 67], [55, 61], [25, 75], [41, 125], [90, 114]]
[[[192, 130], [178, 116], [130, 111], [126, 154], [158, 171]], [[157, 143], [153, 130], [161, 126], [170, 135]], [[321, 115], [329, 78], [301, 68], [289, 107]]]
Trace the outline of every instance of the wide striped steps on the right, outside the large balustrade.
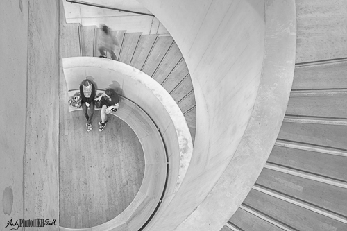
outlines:
[[285, 119], [257, 182], [221, 230], [347, 230], [346, 8], [296, 1]]

